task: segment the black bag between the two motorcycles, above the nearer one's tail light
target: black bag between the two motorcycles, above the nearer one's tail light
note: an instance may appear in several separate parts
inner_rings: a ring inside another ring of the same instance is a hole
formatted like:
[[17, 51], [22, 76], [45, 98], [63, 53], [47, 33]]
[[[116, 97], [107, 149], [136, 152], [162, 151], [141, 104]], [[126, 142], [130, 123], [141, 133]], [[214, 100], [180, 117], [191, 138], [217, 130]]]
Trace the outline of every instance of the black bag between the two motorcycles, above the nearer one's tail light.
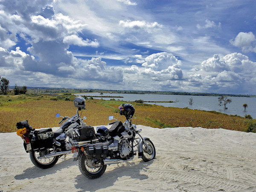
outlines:
[[80, 136], [74, 137], [76, 141], [86, 141], [95, 139], [95, 130], [90, 125], [79, 125], [76, 129], [79, 130]]

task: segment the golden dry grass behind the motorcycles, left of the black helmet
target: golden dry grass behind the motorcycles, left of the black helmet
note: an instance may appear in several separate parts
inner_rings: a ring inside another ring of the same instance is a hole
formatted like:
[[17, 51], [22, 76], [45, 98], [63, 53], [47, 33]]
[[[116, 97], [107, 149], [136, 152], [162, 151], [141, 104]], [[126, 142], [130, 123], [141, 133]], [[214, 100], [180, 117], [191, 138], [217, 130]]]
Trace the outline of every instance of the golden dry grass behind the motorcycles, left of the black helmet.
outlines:
[[[84, 121], [87, 125], [106, 125], [108, 116], [113, 115], [111, 110], [93, 102], [88, 102], [87, 110], [83, 110], [81, 116], [86, 116]], [[13, 104], [0, 107], [0, 132], [16, 131], [16, 123], [28, 120], [32, 128], [58, 127], [61, 116], [73, 116], [76, 108], [71, 101], [38, 100], [21, 104]], [[79, 113], [80, 114], [80, 113]]]

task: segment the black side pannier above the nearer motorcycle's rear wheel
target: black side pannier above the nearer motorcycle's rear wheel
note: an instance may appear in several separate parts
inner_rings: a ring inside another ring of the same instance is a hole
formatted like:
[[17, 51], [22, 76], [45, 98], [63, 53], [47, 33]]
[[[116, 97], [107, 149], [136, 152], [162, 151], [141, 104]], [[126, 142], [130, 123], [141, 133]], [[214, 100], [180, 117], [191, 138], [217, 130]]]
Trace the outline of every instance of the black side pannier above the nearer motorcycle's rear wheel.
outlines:
[[108, 145], [106, 143], [89, 144], [84, 151], [88, 159], [105, 159], [108, 156]]

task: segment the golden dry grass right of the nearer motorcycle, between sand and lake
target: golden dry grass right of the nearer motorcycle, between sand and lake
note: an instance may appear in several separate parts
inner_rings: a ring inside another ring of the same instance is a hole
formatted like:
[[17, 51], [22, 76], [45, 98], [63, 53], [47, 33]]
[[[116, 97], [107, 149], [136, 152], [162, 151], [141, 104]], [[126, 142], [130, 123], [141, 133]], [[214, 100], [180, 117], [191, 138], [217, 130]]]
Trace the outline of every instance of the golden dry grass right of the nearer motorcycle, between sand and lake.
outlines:
[[156, 125], [158, 124], [158, 127], [225, 128], [237, 131], [245, 131], [247, 129], [247, 121], [243, 117], [208, 111], [166, 108], [153, 105], [147, 108], [136, 106], [136, 114], [150, 119]]

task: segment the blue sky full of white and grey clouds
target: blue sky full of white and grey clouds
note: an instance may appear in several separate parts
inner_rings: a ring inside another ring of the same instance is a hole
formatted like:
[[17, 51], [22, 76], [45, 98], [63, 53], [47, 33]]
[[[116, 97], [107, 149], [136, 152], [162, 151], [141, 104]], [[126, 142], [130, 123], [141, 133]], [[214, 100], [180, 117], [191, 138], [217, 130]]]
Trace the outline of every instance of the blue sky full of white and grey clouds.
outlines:
[[0, 76], [256, 95], [255, 0], [0, 0]]

